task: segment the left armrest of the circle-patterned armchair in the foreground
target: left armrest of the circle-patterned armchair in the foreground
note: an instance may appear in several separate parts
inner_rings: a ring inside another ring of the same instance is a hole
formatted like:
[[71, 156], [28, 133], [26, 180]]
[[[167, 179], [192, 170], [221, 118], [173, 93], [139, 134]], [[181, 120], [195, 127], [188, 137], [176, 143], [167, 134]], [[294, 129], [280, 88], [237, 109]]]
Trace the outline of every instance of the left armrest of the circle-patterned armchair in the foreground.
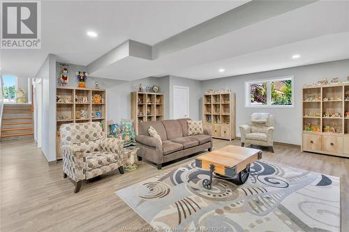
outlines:
[[63, 157], [63, 171], [72, 180], [80, 181], [85, 179], [84, 167], [85, 157], [79, 146], [73, 145], [62, 145], [61, 153]]

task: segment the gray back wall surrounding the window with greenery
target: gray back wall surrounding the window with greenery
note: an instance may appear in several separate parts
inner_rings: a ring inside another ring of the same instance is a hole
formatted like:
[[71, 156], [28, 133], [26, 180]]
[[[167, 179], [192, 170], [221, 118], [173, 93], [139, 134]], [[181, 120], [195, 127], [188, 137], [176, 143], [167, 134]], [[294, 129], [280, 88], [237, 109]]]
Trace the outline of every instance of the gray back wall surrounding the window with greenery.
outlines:
[[[268, 79], [274, 77], [293, 76], [295, 84], [295, 107], [293, 108], [245, 108], [244, 107], [244, 82]], [[230, 88], [236, 93], [237, 103], [237, 132], [239, 125], [248, 123], [248, 117], [253, 112], [267, 112], [274, 115], [275, 134], [274, 140], [289, 144], [301, 144], [302, 142], [302, 86], [318, 82], [320, 79], [328, 80], [339, 77], [345, 80], [349, 75], [349, 59], [304, 65], [295, 68], [285, 68], [268, 72], [258, 72], [249, 75], [224, 77], [202, 82], [202, 93], [209, 88]], [[239, 135], [239, 134], [238, 134]]]

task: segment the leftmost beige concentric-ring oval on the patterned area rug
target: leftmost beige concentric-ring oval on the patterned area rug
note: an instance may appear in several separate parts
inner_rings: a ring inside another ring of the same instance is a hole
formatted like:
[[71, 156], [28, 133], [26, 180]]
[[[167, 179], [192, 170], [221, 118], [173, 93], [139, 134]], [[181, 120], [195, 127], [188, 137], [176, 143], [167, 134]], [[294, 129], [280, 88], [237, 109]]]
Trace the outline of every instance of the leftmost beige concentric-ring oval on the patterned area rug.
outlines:
[[143, 183], [135, 189], [135, 194], [142, 199], [160, 199], [170, 194], [170, 186], [159, 181]]

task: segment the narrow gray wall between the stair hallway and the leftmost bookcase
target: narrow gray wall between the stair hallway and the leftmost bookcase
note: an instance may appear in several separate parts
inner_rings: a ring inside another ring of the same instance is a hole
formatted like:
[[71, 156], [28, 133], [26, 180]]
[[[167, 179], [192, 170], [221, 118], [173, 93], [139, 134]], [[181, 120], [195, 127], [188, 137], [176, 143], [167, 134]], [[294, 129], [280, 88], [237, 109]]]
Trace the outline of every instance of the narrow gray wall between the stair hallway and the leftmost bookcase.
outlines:
[[[47, 160], [56, 160], [56, 56], [49, 54], [35, 78], [42, 79], [42, 138], [41, 150]], [[40, 109], [38, 109], [40, 110]], [[38, 132], [40, 133], [40, 132]]]

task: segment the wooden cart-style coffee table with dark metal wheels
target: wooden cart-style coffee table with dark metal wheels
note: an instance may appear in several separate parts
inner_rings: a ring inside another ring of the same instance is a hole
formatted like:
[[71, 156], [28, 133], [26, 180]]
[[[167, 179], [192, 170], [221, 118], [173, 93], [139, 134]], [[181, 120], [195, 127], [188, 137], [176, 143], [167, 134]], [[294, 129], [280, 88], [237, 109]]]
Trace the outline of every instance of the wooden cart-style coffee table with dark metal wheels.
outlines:
[[210, 171], [209, 179], [203, 180], [202, 185], [211, 190], [213, 173], [218, 177], [231, 178], [242, 185], [250, 174], [250, 164], [260, 159], [262, 150], [229, 145], [200, 155], [195, 159], [195, 165]]

